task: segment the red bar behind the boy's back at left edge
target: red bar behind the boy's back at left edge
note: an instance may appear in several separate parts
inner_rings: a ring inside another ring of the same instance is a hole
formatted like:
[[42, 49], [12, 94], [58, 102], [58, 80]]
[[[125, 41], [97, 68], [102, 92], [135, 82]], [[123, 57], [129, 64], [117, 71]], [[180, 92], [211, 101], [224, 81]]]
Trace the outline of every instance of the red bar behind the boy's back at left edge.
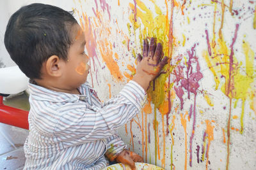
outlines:
[[3, 96], [0, 96], [0, 122], [23, 129], [29, 129], [28, 111], [4, 105]]

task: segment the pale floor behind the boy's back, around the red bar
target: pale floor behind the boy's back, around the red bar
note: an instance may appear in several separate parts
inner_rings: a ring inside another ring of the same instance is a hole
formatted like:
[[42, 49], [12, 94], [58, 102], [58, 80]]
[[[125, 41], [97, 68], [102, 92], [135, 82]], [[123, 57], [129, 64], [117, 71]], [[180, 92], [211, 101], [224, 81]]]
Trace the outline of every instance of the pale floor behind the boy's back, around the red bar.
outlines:
[[[22, 110], [29, 110], [28, 95], [5, 98], [4, 104]], [[0, 123], [0, 170], [23, 169], [25, 156], [24, 141], [28, 130]]]

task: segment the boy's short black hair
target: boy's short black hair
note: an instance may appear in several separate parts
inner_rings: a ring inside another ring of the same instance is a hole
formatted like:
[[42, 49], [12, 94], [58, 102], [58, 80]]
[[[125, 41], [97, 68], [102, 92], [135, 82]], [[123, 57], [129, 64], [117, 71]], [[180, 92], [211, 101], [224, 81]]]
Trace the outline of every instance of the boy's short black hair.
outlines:
[[52, 55], [67, 60], [72, 43], [72, 13], [49, 4], [29, 4], [13, 13], [4, 34], [12, 60], [31, 79], [40, 79], [42, 63]]

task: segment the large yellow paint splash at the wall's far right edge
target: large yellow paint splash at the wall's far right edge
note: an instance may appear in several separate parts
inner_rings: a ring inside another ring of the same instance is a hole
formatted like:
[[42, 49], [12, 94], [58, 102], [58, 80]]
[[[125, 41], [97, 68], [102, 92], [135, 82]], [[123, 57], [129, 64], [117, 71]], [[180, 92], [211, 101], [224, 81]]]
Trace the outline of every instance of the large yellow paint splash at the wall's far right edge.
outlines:
[[[235, 55], [233, 56], [234, 65], [233, 71], [230, 74], [230, 50], [223, 39], [218, 39], [218, 43], [212, 48], [214, 44], [211, 43], [211, 50], [214, 56], [209, 56], [205, 50], [203, 56], [209, 69], [214, 74], [216, 82], [216, 89], [220, 84], [221, 78], [225, 78], [225, 83], [221, 86], [221, 91], [230, 99], [241, 99], [243, 103], [246, 99], [252, 99], [255, 90], [252, 89], [252, 83], [255, 81], [255, 74], [253, 73], [254, 52], [250, 48], [248, 42], [244, 41], [242, 49], [245, 57], [245, 64], [238, 62]], [[245, 66], [245, 70], [241, 69]], [[228, 86], [229, 85], [229, 86]], [[207, 101], [207, 97], [205, 97]], [[208, 103], [208, 102], [207, 102]], [[211, 103], [210, 103], [211, 104]], [[210, 105], [211, 106], [211, 105]], [[251, 108], [253, 106], [251, 105]], [[241, 113], [241, 133], [243, 132], [243, 114], [244, 107]]]

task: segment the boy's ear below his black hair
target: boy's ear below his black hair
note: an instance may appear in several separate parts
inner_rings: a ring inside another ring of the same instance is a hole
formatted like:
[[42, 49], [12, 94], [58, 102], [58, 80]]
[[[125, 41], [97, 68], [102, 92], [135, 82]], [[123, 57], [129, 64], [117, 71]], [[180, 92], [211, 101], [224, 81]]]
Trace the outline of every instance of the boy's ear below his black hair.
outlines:
[[52, 55], [45, 63], [45, 71], [49, 76], [61, 76], [61, 62], [57, 55]]

